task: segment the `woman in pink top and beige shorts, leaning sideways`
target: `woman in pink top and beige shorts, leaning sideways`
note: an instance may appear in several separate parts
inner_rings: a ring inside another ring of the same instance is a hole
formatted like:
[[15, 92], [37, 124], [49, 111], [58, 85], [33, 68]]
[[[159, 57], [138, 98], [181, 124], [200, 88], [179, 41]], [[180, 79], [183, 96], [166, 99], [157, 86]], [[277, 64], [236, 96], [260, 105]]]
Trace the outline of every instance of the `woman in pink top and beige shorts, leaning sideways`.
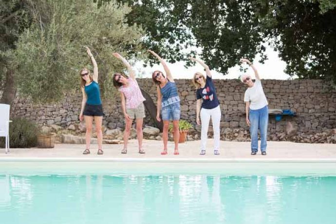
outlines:
[[121, 153], [127, 153], [127, 143], [131, 133], [131, 126], [133, 119], [136, 120], [136, 135], [139, 143], [139, 153], [144, 154], [145, 150], [142, 148], [142, 124], [145, 117], [145, 108], [143, 101], [145, 101], [142, 95], [138, 82], [136, 81], [134, 71], [130, 63], [118, 53], [113, 53], [113, 56], [120, 59], [130, 74], [130, 78], [121, 73], [115, 73], [113, 75], [113, 85], [120, 92], [121, 108], [125, 116], [125, 131], [124, 131], [124, 149]]

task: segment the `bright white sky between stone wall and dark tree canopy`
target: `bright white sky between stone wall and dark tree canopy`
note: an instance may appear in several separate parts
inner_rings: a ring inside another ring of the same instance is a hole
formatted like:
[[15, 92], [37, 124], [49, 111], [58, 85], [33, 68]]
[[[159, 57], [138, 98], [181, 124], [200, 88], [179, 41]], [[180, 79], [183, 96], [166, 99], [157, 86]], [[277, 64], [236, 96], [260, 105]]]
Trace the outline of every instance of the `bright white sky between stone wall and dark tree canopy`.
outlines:
[[[268, 60], [266, 60], [264, 64], [261, 64], [258, 62], [259, 55], [256, 56], [253, 62], [262, 79], [289, 79], [291, 78], [291, 76], [286, 75], [284, 73], [286, 63], [279, 58], [278, 52], [275, 52], [272, 48], [267, 47], [266, 55], [268, 56]], [[173, 64], [171, 63], [167, 63], [167, 64], [171, 71], [171, 74], [173, 75], [174, 78], [177, 78], [177, 79], [178, 78], [192, 78], [195, 72], [202, 72], [205, 74], [203, 67], [199, 65], [198, 63], [196, 63], [195, 66], [192, 66], [189, 68], [184, 67], [185, 63], [183, 61], [176, 62]], [[244, 64], [243, 67], [248, 68], [249, 66]], [[164, 71], [163, 66], [161, 64], [160, 65], [155, 64], [153, 65], [153, 67], [147, 66], [146, 68], [144, 68], [143, 62], [141, 61], [135, 63], [134, 68], [137, 71], [138, 77], [142, 77], [142, 78], [150, 78], [152, 72], [155, 70]], [[231, 67], [228, 70], [227, 75], [223, 75], [222, 73], [218, 73], [212, 70], [211, 71], [212, 77], [215, 79], [239, 78], [239, 76], [243, 74], [243, 72], [241, 72], [239, 68], [240, 66], [238, 64], [235, 67]], [[251, 75], [252, 78], [254, 77], [253, 70], [251, 68], [249, 68], [246, 71], [246, 73]]]

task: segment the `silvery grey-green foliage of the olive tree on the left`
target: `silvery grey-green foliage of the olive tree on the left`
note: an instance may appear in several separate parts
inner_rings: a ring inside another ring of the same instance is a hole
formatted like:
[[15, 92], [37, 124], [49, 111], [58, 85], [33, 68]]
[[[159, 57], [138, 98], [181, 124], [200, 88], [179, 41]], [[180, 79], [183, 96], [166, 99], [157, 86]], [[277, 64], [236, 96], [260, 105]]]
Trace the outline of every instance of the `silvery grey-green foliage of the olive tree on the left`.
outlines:
[[99, 9], [92, 0], [34, 2], [34, 22], [20, 35], [15, 51], [19, 93], [50, 102], [78, 91], [79, 70], [92, 68], [83, 46], [90, 47], [97, 61], [103, 96], [111, 93], [109, 75], [122, 69], [112, 53], [141, 48], [141, 29], [124, 22], [131, 9], [114, 1]]

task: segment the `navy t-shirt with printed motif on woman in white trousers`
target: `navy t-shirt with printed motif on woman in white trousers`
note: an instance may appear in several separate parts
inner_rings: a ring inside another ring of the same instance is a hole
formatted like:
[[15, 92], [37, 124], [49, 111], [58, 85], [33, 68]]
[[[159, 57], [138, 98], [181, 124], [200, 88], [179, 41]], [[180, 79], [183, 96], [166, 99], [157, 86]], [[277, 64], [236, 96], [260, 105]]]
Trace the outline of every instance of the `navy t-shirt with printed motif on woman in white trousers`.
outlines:
[[196, 91], [196, 99], [203, 99], [202, 108], [204, 109], [214, 109], [219, 105], [216, 88], [211, 77], [206, 75], [205, 86]]

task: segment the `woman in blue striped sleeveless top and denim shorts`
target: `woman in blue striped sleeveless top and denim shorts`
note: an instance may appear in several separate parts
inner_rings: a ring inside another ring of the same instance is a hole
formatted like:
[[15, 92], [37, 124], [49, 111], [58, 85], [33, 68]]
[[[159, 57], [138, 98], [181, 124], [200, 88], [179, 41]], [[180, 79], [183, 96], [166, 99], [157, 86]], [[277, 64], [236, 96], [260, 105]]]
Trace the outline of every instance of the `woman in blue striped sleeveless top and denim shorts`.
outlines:
[[170, 70], [166, 64], [166, 62], [158, 56], [155, 52], [150, 51], [149, 53], [153, 56], [157, 57], [157, 59], [163, 65], [167, 77], [161, 71], [154, 71], [152, 74], [152, 79], [154, 84], [156, 84], [157, 90], [157, 111], [156, 111], [156, 119], [161, 121], [160, 119], [160, 110], [162, 113], [163, 120], [163, 145], [164, 149], [161, 152], [162, 155], [167, 154], [167, 145], [168, 145], [168, 127], [169, 122], [173, 121], [173, 131], [174, 131], [174, 142], [175, 149], [174, 155], [178, 155], [179, 153], [179, 138], [180, 138], [180, 130], [179, 130], [179, 120], [180, 120], [180, 97], [177, 92], [176, 84], [174, 82], [173, 76], [170, 73]]

